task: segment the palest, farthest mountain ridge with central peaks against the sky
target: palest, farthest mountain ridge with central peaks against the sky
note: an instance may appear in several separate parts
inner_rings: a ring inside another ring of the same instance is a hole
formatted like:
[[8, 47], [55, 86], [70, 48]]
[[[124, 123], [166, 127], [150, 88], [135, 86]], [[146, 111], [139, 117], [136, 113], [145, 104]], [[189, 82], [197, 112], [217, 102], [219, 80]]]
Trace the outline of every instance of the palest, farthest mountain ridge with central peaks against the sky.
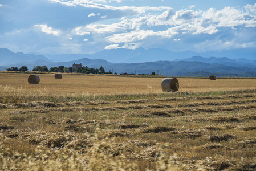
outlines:
[[[32, 52], [31, 52], [32, 53]], [[69, 62], [70, 60], [78, 60], [82, 58], [89, 59], [103, 59], [111, 63], [138, 63], [138, 62], [152, 62], [157, 60], [175, 60], [177, 58], [189, 58], [191, 56], [199, 55], [193, 51], [172, 52], [161, 48], [151, 48], [145, 50], [144, 48], [138, 48], [136, 50], [130, 50], [125, 48], [118, 48], [115, 50], [103, 50], [96, 52], [95, 54], [38, 54], [46, 56], [46, 58], [55, 62]]]

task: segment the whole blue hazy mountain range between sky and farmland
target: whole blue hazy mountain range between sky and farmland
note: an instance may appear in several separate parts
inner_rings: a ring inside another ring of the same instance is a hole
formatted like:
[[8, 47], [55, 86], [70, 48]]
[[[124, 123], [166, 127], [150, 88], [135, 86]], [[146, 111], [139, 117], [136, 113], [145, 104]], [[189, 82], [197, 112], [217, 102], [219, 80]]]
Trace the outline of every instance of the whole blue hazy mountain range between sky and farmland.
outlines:
[[[256, 60], [210, 56], [205, 58], [198, 56], [193, 51], [170, 52], [156, 48], [149, 50], [119, 48], [117, 50], [104, 50], [92, 55], [44, 55], [14, 53], [8, 49], [0, 49], [0, 70], [5, 71], [6, 68], [11, 66], [27, 66], [29, 69], [38, 65], [46, 65], [48, 68], [60, 65], [71, 67], [74, 63], [82, 63], [84, 66], [91, 68], [103, 66], [105, 71], [110, 70], [111, 72], [117, 72], [117, 74], [123, 72], [136, 75], [151, 74], [154, 71], [156, 74], [164, 76], [208, 76], [214, 73], [217, 76], [256, 77]], [[192, 57], [186, 58], [189, 55], [192, 55]], [[185, 58], [180, 59], [182, 56]], [[63, 59], [63, 62], [60, 62], [61, 59]]]

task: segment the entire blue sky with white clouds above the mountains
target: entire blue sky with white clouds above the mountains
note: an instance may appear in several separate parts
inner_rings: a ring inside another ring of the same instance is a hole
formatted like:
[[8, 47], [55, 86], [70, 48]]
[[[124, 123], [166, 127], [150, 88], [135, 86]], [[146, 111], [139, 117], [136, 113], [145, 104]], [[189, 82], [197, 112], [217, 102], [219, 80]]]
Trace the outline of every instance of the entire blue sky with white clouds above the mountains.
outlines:
[[0, 48], [93, 54], [116, 48], [256, 49], [255, 0], [0, 0]]

